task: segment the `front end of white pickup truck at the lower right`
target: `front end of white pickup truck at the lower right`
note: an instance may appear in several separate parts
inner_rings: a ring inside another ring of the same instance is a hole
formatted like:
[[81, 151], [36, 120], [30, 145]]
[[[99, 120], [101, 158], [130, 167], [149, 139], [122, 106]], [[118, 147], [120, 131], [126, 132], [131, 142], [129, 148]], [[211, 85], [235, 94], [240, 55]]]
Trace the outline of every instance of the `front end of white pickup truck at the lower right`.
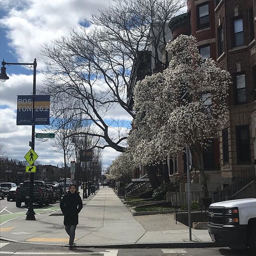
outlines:
[[249, 247], [256, 255], [256, 198], [214, 203], [208, 214], [212, 241], [234, 249]]

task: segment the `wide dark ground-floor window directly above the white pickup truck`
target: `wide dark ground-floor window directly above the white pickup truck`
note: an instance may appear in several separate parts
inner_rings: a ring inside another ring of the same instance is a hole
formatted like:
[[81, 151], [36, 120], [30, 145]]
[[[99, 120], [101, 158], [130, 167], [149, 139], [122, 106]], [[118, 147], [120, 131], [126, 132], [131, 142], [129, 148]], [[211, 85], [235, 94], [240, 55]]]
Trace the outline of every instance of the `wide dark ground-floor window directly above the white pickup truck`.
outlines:
[[250, 130], [248, 125], [236, 126], [236, 154], [238, 164], [249, 164], [251, 162]]

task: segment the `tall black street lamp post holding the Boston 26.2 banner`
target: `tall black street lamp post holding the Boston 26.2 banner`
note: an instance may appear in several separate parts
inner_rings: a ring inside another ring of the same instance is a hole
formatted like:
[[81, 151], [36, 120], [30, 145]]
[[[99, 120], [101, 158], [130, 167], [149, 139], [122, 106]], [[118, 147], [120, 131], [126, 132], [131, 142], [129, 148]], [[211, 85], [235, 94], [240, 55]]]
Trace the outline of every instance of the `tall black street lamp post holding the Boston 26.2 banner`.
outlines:
[[[0, 81], [5, 82], [9, 79], [9, 77], [6, 74], [6, 67], [5, 65], [33, 65], [34, 72], [33, 72], [33, 105], [32, 105], [32, 136], [31, 136], [31, 148], [32, 150], [35, 149], [35, 120], [34, 120], [34, 102], [35, 102], [35, 96], [36, 96], [36, 59], [34, 59], [33, 63], [9, 63], [2, 61], [2, 68], [1, 68], [1, 74], [0, 74]], [[32, 164], [34, 165], [34, 163]], [[28, 211], [26, 212], [26, 220], [35, 220], [35, 212], [33, 208], [33, 190], [34, 190], [34, 172], [30, 172], [30, 188], [29, 188], [29, 206]]]

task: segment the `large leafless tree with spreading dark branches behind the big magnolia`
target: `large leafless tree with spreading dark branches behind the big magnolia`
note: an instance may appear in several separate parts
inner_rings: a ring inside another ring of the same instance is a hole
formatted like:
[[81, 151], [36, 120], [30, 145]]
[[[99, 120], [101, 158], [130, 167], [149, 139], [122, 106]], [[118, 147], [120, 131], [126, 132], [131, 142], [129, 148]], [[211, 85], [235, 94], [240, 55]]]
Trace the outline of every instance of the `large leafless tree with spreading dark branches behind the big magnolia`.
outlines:
[[[86, 132], [97, 138], [94, 147], [124, 152], [130, 127], [123, 123], [114, 137], [107, 120], [114, 108], [134, 118], [126, 101], [133, 79], [131, 69], [145, 62], [139, 58], [144, 51], [150, 54], [150, 61], [154, 58], [153, 66], [162, 64], [158, 48], [166, 44], [168, 21], [182, 6], [184, 1], [180, 0], [114, 0], [86, 21], [92, 25], [90, 30], [81, 26], [70, 38], [45, 44], [42, 55], [47, 68], [42, 92], [50, 94], [52, 102], [65, 102], [62, 107], [53, 104], [54, 114], [64, 108], [74, 111], [74, 116], [82, 114], [94, 124], [93, 131]], [[147, 68], [150, 73], [151, 65]]]

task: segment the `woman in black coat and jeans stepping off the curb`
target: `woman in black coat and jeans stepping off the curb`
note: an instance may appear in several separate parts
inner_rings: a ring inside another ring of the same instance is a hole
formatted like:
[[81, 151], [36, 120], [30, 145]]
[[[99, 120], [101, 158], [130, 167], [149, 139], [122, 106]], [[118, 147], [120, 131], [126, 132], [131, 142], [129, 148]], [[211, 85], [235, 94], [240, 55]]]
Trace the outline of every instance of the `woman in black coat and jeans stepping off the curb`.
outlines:
[[78, 213], [82, 208], [83, 203], [79, 192], [76, 190], [76, 184], [71, 184], [68, 193], [64, 195], [60, 202], [60, 209], [64, 214], [65, 230], [69, 235], [69, 250], [73, 249]]

